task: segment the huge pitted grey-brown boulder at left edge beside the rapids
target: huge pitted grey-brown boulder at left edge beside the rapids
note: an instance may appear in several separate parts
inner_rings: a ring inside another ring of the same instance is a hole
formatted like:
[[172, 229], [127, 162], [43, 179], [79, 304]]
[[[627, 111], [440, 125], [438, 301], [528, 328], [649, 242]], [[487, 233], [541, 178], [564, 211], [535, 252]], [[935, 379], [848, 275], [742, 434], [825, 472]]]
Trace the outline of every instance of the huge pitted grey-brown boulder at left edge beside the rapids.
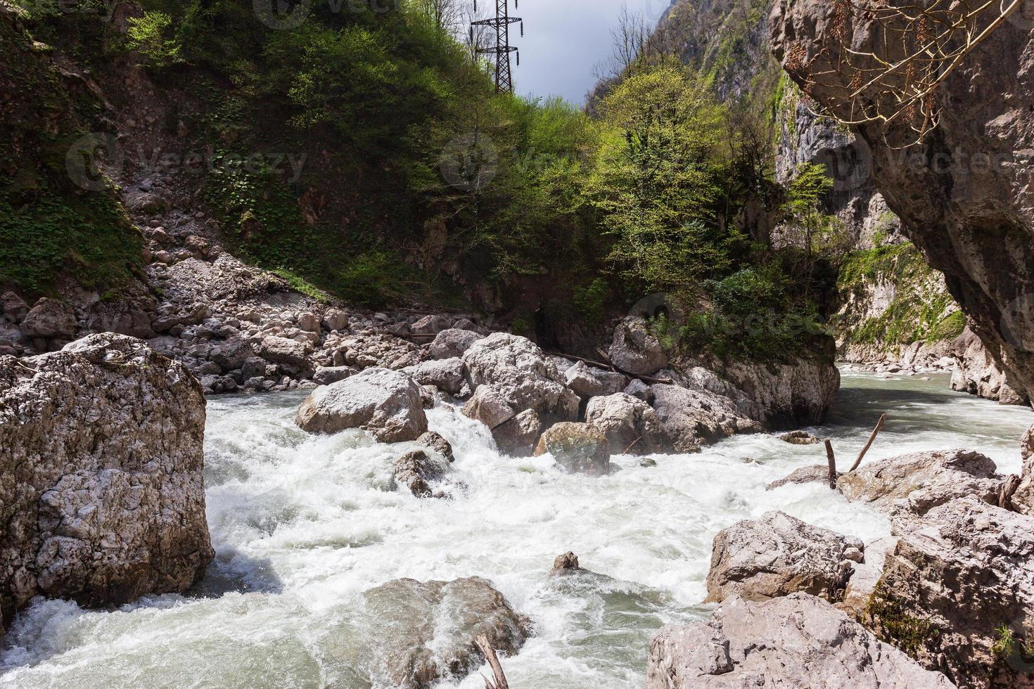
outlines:
[[[212, 560], [205, 397], [120, 335], [0, 357], [0, 610], [185, 591]], [[3, 625], [0, 625], [2, 629]]]

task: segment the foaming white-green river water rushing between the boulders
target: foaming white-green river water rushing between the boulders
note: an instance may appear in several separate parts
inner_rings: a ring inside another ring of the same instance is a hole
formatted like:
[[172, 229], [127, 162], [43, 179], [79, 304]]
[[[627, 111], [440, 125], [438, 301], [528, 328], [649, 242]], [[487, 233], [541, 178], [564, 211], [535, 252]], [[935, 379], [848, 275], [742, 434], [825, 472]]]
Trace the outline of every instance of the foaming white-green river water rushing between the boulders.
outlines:
[[[1028, 410], [946, 390], [947, 380], [848, 373], [829, 425], [846, 463], [880, 413], [871, 459], [950, 447], [1020, 468]], [[208, 518], [217, 551], [199, 591], [117, 610], [39, 601], [4, 639], [0, 687], [370, 687], [377, 639], [364, 633], [361, 592], [398, 577], [487, 577], [535, 624], [505, 659], [525, 689], [641, 687], [651, 633], [705, 619], [699, 605], [711, 539], [739, 520], [782, 509], [863, 539], [885, 519], [823, 486], [766, 493], [765, 483], [825, 461], [821, 446], [733, 438], [643, 468], [615, 458], [604, 478], [513, 460], [452, 409], [430, 412], [468, 487], [451, 501], [389, 492], [403, 449], [360, 434], [309, 437], [293, 424], [297, 395], [209, 403]], [[559, 587], [553, 558], [575, 552], [604, 576]], [[397, 621], [400, 626], [406, 620]], [[374, 687], [387, 686], [374, 679]], [[480, 689], [477, 674], [443, 686]]]

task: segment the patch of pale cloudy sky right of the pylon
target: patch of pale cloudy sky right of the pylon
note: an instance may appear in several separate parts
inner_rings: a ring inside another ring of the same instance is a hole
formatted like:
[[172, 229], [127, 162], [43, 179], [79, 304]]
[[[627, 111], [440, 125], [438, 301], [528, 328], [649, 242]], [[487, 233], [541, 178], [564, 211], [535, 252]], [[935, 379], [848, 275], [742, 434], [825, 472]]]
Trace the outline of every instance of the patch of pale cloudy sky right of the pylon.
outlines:
[[670, 4], [671, 0], [519, 0], [514, 9], [511, 0], [511, 14], [524, 19], [524, 37], [519, 28], [510, 34], [511, 44], [520, 48], [520, 67], [514, 61], [514, 90], [531, 96], [560, 95], [581, 105], [597, 82], [596, 67], [612, 53], [610, 30], [621, 6], [643, 12], [652, 26]]

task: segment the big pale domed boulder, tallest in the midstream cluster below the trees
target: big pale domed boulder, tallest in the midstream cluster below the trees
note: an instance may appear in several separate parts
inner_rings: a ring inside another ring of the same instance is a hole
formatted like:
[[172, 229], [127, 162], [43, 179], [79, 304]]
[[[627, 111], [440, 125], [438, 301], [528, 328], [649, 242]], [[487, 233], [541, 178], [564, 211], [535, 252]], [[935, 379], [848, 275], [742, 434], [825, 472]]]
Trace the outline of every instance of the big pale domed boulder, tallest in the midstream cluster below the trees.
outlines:
[[545, 424], [578, 418], [578, 396], [546, 354], [530, 340], [495, 333], [463, 354], [467, 381], [476, 393], [488, 386], [514, 413], [534, 409]]

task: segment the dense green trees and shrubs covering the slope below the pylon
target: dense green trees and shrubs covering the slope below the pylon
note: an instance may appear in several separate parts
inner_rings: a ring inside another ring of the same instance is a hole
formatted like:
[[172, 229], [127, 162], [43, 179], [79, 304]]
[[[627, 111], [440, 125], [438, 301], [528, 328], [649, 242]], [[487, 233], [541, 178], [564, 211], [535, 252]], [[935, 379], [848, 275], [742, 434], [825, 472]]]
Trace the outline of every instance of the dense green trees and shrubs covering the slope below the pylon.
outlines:
[[[297, 26], [242, 0], [147, 0], [118, 6], [113, 22], [100, 3], [75, 22], [57, 6], [21, 6], [4, 24], [26, 45], [18, 90], [61, 92], [28, 60], [51, 45], [99, 81], [145, 65], [168, 98], [156, 126], [175, 150], [161, 153], [182, 162], [181, 151], [200, 152], [203, 174], [180, 178], [223, 241], [298, 289], [371, 306], [473, 305], [546, 339], [550, 323], [591, 331], [663, 293], [690, 314], [658, 323], [678, 328], [673, 340], [758, 358], [799, 353], [822, 333], [843, 250], [822, 211], [831, 182], [805, 165], [777, 183], [774, 105], [719, 100], [712, 75], [675, 51], [626, 55], [590, 116], [496, 94], [440, 3], [306, 3]], [[69, 185], [61, 155], [105, 131], [103, 108], [89, 90], [63, 97], [74, 124], [26, 133], [5, 156], [33, 160], [3, 171], [0, 280], [45, 293], [71, 272], [117, 289], [140, 268], [132, 231], [103, 193]], [[154, 163], [129, 144], [124, 166]], [[776, 224], [801, 241], [774, 249]]]

